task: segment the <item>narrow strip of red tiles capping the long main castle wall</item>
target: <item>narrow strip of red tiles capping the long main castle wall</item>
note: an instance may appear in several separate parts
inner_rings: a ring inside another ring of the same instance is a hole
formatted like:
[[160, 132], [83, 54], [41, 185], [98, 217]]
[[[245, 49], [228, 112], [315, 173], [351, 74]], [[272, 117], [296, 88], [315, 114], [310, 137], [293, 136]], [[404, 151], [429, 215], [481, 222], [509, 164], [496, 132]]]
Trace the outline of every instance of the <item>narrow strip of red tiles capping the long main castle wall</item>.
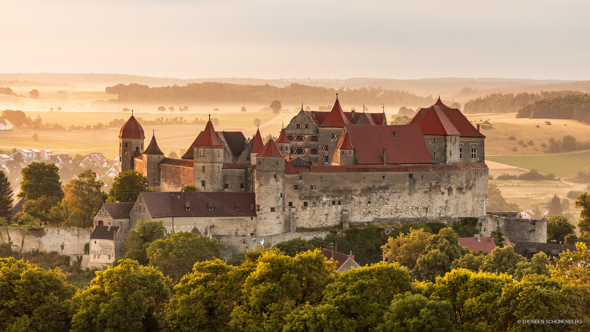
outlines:
[[343, 173], [343, 172], [460, 172], [468, 170], [483, 170], [487, 165], [483, 162], [457, 165], [353, 165], [353, 166], [295, 166], [298, 172], [312, 173]]

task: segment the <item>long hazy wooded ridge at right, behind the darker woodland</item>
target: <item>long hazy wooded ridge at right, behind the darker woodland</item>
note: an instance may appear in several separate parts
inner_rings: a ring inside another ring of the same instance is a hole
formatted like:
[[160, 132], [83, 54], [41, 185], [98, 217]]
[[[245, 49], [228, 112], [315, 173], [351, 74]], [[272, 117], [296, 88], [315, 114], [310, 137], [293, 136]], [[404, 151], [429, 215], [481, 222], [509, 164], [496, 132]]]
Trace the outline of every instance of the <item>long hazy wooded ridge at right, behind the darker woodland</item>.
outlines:
[[[471, 99], [463, 106], [463, 112], [466, 114], [473, 113], [514, 113], [528, 103], [537, 100], [548, 99], [565, 95], [583, 95], [579, 91], [541, 91], [539, 93], [521, 92], [514, 96], [513, 93], [502, 95], [495, 93], [486, 97]], [[528, 118], [528, 116], [526, 116]], [[563, 118], [566, 119], [566, 118]], [[571, 118], [569, 118], [571, 119]]]

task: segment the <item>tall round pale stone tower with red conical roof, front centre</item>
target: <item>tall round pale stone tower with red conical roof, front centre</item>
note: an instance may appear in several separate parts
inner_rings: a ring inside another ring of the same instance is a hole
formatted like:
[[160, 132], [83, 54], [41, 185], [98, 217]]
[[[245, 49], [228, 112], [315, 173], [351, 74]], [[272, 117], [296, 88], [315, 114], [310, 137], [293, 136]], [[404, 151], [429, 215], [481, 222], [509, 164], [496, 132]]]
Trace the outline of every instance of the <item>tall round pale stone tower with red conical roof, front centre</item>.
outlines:
[[285, 155], [269, 139], [256, 155], [254, 190], [256, 193], [257, 235], [283, 232], [285, 215]]

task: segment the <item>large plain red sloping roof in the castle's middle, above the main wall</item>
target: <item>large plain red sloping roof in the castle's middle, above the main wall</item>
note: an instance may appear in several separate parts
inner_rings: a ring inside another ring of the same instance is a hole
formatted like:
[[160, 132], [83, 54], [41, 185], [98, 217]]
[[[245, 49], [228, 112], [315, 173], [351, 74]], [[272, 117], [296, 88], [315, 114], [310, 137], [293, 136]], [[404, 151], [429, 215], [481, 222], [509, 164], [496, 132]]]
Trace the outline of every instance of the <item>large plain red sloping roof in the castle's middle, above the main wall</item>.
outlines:
[[[358, 164], [432, 164], [432, 158], [419, 125], [346, 126]], [[397, 137], [395, 133], [397, 132]]]

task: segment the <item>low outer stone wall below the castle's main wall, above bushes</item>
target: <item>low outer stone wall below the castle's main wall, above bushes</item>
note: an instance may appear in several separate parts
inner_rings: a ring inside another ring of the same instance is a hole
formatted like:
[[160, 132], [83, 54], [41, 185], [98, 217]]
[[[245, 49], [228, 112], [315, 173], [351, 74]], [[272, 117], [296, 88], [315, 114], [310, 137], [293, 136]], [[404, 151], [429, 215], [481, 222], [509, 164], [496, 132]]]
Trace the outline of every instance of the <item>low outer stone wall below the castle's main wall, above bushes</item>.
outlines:
[[239, 253], [241, 249], [253, 249], [260, 246], [260, 240], [264, 239], [264, 243], [270, 243], [271, 246], [279, 242], [287, 241], [300, 237], [301, 239], [311, 240], [314, 237], [324, 237], [328, 233], [322, 232], [304, 232], [304, 233], [282, 233], [266, 236], [235, 236], [235, 235], [213, 235], [213, 239], [222, 245], [221, 259], [227, 260]]

